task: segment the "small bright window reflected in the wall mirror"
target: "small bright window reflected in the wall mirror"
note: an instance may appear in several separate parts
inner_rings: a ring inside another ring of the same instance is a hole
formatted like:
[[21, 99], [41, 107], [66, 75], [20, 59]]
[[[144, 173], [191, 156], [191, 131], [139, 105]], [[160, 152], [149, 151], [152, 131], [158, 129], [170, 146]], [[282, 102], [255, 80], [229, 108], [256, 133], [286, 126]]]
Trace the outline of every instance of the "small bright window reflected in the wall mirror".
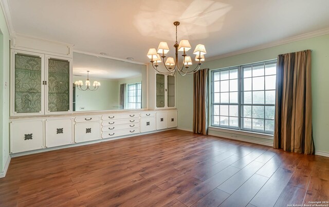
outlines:
[[141, 93], [142, 93], [142, 84], [133, 83], [128, 84], [127, 87], [127, 109], [136, 109], [141, 108]]

